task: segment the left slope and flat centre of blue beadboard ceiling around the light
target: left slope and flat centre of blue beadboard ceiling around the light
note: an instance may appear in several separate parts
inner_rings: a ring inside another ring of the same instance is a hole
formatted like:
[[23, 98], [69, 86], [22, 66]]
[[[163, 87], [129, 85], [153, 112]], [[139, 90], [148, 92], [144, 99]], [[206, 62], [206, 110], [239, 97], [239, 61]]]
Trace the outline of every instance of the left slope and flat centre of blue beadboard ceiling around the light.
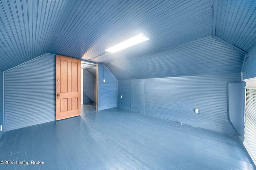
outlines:
[[0, 0], [0, 70], [44, 53], [90, 59], [143, 32], [110, 63], [211, 35], [212, 0]]

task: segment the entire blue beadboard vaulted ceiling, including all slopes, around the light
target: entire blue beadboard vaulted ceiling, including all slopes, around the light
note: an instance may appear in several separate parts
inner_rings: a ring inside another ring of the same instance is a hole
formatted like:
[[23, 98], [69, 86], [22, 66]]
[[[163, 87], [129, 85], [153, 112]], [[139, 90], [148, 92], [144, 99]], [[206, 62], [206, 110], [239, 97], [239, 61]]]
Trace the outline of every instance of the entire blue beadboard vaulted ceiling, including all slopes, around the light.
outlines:
[[[252, 0], [0, 0], [0, 71], [44, 53], [88, 60], [142, 32], [149, 41], [91, 61], [122, 79], [181, 75], [181, 68], [240, 72], [243, 55], [209, 36], [249, 51], [256, 45], [255, 18]], [[167, 71], [140, 72], [152, 66]]]

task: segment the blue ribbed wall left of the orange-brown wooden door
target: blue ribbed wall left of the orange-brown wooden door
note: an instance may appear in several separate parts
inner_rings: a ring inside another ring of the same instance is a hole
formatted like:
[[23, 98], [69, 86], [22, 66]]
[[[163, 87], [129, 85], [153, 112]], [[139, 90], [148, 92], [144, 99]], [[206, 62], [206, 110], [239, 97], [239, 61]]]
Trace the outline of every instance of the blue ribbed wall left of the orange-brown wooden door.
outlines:
[[5, 130], [55, 120], [56, 57], [45, 54], [4, 73]]

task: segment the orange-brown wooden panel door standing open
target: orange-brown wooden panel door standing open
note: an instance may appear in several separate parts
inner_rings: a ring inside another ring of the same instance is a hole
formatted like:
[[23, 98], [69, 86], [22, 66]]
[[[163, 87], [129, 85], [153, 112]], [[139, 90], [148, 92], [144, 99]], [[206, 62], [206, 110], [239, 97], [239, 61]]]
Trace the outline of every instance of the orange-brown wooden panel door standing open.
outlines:
[[56, 120], [81, 114], [81, 61], [56, 55]]

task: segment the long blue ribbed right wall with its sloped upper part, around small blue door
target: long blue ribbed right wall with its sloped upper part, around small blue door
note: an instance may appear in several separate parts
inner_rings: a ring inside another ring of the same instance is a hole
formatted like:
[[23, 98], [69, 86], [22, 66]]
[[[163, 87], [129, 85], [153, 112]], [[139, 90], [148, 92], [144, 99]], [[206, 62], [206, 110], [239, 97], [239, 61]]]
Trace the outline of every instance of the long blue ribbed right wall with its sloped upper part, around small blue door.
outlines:
[[241, 82], [243, 59], [209, 36], [106, 66], [118, 78], [118, 107], [130, 109], [130, 80], [146, 78], [145, 114], [237, 135], [227, 92], [229, 82]]

